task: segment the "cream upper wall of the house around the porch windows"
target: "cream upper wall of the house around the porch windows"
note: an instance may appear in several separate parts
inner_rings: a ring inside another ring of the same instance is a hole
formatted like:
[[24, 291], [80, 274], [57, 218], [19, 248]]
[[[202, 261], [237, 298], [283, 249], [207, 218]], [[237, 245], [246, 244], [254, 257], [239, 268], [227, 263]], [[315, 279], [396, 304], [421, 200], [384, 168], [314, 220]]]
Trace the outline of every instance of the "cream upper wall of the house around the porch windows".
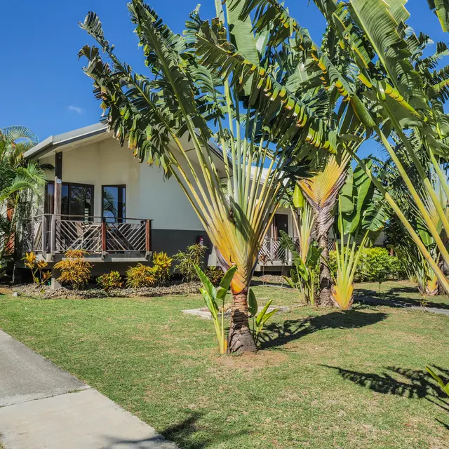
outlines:
[[[41, 158], [55, 163], [55, 156]], [[53, 180], [51, 175], [48, 180]], [[126, 216], [154, 220], [154, 229], [201, 230], [203, 226], [177, 181], [135, 159], [113, 138], [64, 152], [62, 182], [94, 186], [94, 215], [101, 216], [102, 186], [126, 185]]]

